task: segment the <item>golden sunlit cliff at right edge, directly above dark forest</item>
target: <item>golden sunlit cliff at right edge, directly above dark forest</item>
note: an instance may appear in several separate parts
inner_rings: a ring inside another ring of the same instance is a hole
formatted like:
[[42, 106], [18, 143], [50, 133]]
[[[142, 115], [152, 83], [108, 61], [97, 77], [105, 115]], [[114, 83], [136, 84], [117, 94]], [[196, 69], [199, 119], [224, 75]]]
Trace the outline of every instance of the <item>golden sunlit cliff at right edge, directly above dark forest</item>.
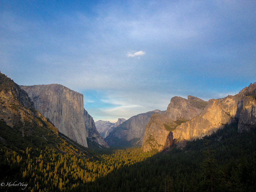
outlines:
[[239, 132], [250, 130], [256, 124], [256, 100], [253, 97], [255, 89], [256, 84], [251, 84], [235, 96], [209, 100], [199, 116], [181, 124], [173, 131], [173, 138], [179, 141], [200, 139], [235, 119], [238, 119]]

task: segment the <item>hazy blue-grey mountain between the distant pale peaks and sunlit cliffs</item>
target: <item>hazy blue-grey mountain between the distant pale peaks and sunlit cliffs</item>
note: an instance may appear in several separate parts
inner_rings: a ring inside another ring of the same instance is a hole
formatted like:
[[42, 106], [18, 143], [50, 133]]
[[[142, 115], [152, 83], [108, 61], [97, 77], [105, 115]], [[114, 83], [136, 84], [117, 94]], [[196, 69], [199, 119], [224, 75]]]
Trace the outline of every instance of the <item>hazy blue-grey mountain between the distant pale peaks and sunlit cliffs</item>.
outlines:
[[[165, 112], [165, 111], [164, 111]], [[154, 113], [164, 114], [163, 111], [154, 110], [132, 116], [124, 123], [113, 129], [105, 138], [108, 145], [114, 146], [140, 146], [145, 133], [145, 126]]]

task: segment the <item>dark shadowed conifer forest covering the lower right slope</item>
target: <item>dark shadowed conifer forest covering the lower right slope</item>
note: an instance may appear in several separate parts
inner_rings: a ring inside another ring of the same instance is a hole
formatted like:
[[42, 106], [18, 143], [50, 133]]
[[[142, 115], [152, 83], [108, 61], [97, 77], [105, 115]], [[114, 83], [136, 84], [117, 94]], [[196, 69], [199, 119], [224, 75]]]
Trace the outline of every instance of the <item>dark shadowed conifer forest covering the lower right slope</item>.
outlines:
[[[217, 161], [207, 178], [203, 162], [208, 156], [204, 141]], [[237, 122], [226, 124], [203, 139], [189, 141], [181, 150], [156, 153], [142, 162], [120, 167], [94, 182], [79, 186], [83, 191], [253, 191], [255, 190], [255, 128], [237, 132]], [[122, 158], [121, 158], [122, 159]], [[118, 161], [118, 160], [117, 160]], [[205, 176], [206, 175], [206, 179]]]

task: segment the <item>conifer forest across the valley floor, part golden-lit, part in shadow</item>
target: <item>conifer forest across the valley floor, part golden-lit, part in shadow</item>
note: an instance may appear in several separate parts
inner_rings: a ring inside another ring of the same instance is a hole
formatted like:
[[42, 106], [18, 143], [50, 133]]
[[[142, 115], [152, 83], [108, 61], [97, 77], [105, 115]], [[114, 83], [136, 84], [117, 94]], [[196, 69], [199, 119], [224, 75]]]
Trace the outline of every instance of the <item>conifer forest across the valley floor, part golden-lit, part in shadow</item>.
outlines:
[[[8, 129], [6, 126], [1, 122], [2, 130]], [[188, 142], [183, 149], [174, 147], [162, 153], [142, 153], [140, 148], [103, 149], [88, 158], [45, 147], [44, 143], [17, 149], [14, 145], [22, 140], [12, 146], [1, 141], [1, 183], [24, 182], [27, 191], [256, 189], [255, 128], [238, 133], [237, 122], [204, 139]], [[23, 191], [21, 187], [1, 189]]]

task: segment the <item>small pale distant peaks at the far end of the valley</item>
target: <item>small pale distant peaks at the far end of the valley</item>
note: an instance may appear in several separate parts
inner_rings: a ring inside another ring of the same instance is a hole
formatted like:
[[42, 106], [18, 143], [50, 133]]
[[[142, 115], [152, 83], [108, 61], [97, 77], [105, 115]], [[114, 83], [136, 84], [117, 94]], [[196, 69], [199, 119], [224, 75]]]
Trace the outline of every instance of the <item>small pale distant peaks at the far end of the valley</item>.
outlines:
[[100, 136], [103, 137], [104, 139], [108, 136], [108, 134], [113, 131], [115, 127], [118, 125], [122, 124], [126, 119], [124, 118], [118, 118], [116, 123], [110, 123], [109, 121], [96, 121], [95, 126], [100, 133]]

